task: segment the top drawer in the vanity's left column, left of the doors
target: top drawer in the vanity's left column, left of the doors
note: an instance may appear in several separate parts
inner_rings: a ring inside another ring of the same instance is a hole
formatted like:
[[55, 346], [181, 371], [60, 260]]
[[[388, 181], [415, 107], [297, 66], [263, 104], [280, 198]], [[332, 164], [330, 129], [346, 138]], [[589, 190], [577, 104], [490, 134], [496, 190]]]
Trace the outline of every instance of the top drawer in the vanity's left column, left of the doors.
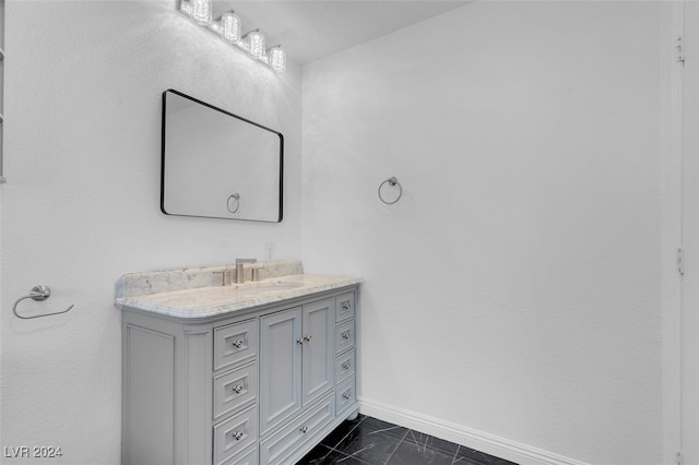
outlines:
[[214, 329], [214, 371], [252, 361], [257, 356], [257, 319]]

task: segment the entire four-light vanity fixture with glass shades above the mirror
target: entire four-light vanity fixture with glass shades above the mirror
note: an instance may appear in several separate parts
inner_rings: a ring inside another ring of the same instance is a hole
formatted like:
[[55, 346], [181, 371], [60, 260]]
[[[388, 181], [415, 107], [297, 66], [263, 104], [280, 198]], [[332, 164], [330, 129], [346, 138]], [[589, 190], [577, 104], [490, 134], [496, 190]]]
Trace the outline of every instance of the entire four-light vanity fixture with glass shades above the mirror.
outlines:
[[179, 4], [179, 11], [218, 35], [225, 43], [241, 48], [251, 58], [262, 61], [274, 71], [286, 70], [286, 53], [281, 45], [265, 50], [264, 35], [260, 29], [252, 29], [241, 36], [242, 22], [233, 10], [225, 12], [216, 21], [212, 21], [212, 0], [180, 0]]

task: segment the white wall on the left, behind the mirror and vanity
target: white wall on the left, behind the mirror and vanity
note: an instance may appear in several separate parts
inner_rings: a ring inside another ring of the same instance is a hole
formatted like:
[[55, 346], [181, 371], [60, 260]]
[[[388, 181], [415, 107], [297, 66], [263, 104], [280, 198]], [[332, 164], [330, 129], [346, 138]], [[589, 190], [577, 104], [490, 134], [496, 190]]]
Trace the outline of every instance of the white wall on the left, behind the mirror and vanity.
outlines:
[[[300, 68], [272, 73], [175, 1], [8, 0], [5, 46], [0, 444], [61, 446], [51, 463], [119, 463], [114, 283], [132, 271], [262, 259], [265, 242], [277, 258], [299, 257]], [[282, 224], [159, 212], [168, 87], [284, 133]], [[54, 289], [36, 309], [75, 308], [12, 317], [35, 284]]]

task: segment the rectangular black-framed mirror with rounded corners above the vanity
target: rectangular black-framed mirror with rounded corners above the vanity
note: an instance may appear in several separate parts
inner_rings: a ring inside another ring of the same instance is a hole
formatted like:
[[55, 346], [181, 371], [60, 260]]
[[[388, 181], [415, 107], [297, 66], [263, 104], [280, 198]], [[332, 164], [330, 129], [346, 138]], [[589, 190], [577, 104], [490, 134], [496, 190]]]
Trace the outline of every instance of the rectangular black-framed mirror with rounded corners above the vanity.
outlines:
[[279, 223], [284, 136], [181, 92], [163, 93], [161, 211]]

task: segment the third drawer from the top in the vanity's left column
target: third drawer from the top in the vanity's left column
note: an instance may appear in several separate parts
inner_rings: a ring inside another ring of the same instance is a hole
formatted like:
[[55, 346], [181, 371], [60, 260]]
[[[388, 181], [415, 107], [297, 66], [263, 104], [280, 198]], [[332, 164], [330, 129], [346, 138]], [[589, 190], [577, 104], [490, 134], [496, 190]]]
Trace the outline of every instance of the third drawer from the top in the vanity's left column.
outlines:
[[214, 464], [223, 464], [258, 439], [258, 408], [247, 410], [214, 427]]

